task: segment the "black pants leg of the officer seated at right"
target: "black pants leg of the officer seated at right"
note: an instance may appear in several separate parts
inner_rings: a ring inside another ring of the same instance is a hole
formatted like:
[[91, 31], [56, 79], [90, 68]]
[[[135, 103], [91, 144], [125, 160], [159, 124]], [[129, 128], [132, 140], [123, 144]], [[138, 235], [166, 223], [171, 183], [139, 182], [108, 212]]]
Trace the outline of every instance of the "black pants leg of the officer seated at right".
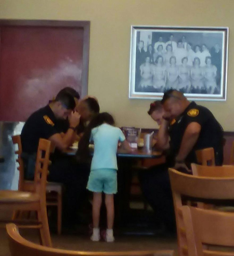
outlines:
[[157, 165], [139, 175], [142, 192], [166, 230], [175, 231], [175, 215], [168, 166]]

